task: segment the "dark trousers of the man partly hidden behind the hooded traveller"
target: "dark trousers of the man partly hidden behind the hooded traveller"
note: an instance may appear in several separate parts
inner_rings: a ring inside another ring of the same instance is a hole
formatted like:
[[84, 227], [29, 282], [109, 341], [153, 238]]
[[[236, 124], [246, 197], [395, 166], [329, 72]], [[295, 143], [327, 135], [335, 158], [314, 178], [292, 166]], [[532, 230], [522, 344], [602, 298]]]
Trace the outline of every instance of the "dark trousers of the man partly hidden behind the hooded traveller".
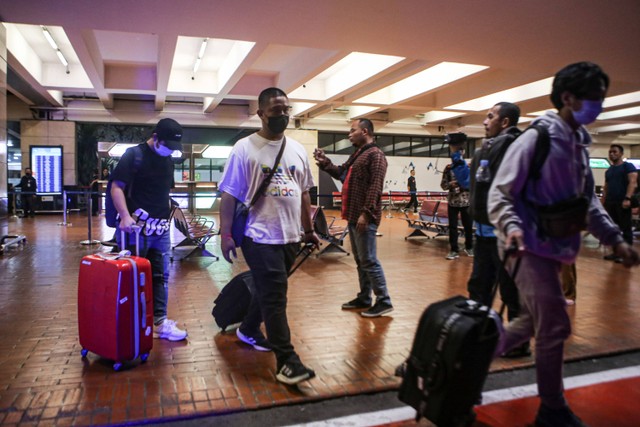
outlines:
[[498, 239], [483, 237], [476, 234], [476, 244], [473, 257], [473, 271], [467, 283], [469, 298], [484, 305], [491, 303], [491, 290], [500, 272], [500, 296], [507, 306], [507, 318], [512, 321], [518, 317], [520, 302], [518, 288], [511, 276], [502, 267], [498, 254]]

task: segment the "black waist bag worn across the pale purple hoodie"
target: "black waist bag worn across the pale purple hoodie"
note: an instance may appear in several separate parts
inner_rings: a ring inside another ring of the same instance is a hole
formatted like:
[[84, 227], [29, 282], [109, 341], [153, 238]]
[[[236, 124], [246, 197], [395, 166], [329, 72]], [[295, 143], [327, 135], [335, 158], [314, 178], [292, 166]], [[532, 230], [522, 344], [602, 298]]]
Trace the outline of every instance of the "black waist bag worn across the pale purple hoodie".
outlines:
[[589, 199], [574, 196], [553, 205], [538, 207], [538, 225], [549, 237], [566, 238], [587, 228]]

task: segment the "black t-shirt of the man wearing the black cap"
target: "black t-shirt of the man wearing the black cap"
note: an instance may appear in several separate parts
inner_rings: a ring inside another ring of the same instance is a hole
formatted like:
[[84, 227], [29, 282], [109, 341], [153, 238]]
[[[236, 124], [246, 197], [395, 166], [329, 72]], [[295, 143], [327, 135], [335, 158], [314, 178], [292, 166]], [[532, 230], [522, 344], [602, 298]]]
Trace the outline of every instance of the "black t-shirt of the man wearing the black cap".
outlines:
[[[157, 223], [156, 220], [166, 220], [171, 214], [169, 192], [174, 186], [173, 161], [170, 156], [157, 155], [146, 143], [138, 147], [142, 150], [142, 162], [137, 172], [134, 173], [134, 148], [129, 148], [109, 179], [122, 181], [127, 186], [133, 184], [131, 197], [127, 197], [129, 212], [145, 220], [147, 226], [155, 228], [153, 225]], [[125, 190], [125, 194], [128, 194], [128, 190]]]

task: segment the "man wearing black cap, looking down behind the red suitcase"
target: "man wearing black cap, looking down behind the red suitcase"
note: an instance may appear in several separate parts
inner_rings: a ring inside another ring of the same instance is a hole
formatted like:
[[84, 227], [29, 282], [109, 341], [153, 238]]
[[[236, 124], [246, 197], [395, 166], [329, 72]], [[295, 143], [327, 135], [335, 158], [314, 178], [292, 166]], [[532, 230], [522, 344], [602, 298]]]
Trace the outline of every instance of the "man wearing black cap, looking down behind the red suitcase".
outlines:
[[[171, 154], [182, 150], [182, 126], [173, 119], [158, 122], [146, 143], [129, 148], [111, 174], [111, 197], [118, 211], [116, 238], [120, 230], [131, 233], [142, 227], [140, 256], [151, 263], [153, 276], [153, 323], [159, 338], [180, 341], [187, 332], [167, 318], [168, 263], [171, 249], [169, 191], [174, 186]], [[127, 235], [127, 246], [135, 244]]]

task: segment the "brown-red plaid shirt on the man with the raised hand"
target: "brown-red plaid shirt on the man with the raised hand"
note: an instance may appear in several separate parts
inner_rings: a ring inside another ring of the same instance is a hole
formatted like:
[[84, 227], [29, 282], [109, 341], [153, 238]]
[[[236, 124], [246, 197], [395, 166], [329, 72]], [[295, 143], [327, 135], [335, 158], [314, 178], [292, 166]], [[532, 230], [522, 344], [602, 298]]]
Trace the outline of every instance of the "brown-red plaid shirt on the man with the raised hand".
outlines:
[[[368, 144], [369, 145], [369, 144]], [[387, 173], [387, 159], [375, 143], [371, 143], [372, 148], [365, 150], [353, 161], [356, 151], [341, 166], [336, 166], [331, 162], [321, 167], [329, 175], [336, 179], [341, 176], [346, 177], [346, 172], [351, 165], [351, 176], [349, 177], [349, 194], [344, 194], [342, 188], [343, 203], [347, 202], [347, 218], [350, 224], [358, 222], [358, 217], [363, 212], [367, 214], [369, 221], [380, 225], [382, 219], [382, 188], [384, 186], [384, 176]], [[367, 147], [366, 145], [362, 148]]]

